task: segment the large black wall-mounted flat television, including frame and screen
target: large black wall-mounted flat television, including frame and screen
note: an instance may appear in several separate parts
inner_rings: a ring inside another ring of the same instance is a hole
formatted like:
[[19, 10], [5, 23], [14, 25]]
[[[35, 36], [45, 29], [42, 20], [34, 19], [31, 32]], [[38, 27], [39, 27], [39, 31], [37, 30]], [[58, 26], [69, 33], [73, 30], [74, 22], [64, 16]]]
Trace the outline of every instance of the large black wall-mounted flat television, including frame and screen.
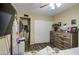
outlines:
[[16, 11], [10, 3], [0, 3], [0, 36], [11, 33], [15, 13]]

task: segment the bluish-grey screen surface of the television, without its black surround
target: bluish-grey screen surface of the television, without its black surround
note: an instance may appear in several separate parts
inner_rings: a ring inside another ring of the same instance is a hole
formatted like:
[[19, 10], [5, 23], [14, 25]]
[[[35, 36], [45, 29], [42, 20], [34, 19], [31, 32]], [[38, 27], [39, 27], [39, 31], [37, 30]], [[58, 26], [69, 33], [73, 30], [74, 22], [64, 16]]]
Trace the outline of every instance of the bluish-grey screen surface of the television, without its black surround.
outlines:
[[9, 25], [11, 14], [0, 11], [0, 35], [5, 34], [7, 26]]

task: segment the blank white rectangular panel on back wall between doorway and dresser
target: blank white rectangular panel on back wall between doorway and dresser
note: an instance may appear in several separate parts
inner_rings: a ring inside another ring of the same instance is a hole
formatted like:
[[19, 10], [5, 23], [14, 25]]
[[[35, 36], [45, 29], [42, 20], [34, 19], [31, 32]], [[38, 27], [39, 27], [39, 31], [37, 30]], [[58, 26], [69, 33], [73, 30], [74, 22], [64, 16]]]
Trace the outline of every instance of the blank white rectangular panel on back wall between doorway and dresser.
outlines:
[[51, 21], [35, 20], [35, 43], [50, 42]]

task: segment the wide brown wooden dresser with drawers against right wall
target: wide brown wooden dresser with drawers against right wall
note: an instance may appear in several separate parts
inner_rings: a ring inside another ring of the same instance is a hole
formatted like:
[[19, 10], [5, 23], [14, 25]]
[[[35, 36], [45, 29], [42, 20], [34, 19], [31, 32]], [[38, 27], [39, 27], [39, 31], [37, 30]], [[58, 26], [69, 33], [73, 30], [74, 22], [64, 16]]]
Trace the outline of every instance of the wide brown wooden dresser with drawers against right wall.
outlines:
[[55, 32], [50, 31], [50, 43], [59, 49], [68, 49], [78, 46], [78, 32]]

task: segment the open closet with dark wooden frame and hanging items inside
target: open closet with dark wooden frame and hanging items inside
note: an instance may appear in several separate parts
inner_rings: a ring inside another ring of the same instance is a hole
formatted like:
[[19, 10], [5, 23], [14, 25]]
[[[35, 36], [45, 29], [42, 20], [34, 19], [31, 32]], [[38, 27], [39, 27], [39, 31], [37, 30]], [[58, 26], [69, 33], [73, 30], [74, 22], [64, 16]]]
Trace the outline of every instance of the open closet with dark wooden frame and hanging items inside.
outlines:
[[25, 51], [30, 47], [30, 18], [20, 17], [19, 32], [21, 37], [25, 37]]

